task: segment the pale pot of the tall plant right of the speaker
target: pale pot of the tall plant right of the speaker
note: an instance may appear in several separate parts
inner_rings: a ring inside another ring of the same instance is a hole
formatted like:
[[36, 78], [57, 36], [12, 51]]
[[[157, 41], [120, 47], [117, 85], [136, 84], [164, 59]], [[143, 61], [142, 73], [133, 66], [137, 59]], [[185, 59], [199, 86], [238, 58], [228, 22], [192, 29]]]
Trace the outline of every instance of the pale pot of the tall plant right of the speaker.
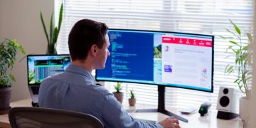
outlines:
[[239, 99], [239, 117], [247, 122], [250, 117], [250, 100], [247, 97], [240, 97]]

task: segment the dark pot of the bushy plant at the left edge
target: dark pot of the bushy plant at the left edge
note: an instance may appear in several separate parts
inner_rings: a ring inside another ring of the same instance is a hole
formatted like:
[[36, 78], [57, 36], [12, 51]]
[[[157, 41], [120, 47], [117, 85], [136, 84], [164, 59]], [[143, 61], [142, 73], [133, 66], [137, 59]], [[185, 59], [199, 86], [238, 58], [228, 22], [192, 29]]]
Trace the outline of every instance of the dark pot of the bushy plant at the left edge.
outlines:
[[0, 114], [9, 112], [11, 102], [11, 87], [0, 88]]

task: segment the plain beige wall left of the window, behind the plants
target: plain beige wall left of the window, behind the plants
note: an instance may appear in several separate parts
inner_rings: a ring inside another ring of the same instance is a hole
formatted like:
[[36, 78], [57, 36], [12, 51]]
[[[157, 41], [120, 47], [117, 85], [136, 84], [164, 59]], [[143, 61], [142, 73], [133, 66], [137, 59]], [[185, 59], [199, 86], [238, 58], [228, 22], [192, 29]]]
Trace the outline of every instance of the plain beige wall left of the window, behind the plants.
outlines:
[[[50, 14], [54, 10], [54, 0], [0, 0], [0, 41], [16, 38], [27, 54], [46, 53], [46, 36], [40, 21], [40, 11], [48, 28]], [[18, 59], [11, 73], [15, 76], [11, 101], [29, 96], [26, 78], [26, 58], [18, 53]]]

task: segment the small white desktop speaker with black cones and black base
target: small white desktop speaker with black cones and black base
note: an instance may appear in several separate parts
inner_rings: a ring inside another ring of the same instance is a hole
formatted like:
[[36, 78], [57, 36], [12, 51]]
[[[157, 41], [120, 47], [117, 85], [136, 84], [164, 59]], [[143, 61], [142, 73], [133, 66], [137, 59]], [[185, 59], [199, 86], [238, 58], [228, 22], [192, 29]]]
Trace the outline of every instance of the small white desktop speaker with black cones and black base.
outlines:
[[233, 88], [220, 87], [218, 102], [217, 102], [217, 118], [218, 119], [233, 119], [238, 117], [235, 114], [235, 93]]

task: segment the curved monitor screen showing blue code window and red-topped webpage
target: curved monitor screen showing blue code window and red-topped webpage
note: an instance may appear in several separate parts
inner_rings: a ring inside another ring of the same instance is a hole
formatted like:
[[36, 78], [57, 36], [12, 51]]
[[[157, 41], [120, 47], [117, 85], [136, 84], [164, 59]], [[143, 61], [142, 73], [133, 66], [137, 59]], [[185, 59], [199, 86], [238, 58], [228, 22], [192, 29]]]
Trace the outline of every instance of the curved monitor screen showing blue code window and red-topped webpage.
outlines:
[[214, 36], [110, 29], [110, 57], [97, 81], [213, 92]]

